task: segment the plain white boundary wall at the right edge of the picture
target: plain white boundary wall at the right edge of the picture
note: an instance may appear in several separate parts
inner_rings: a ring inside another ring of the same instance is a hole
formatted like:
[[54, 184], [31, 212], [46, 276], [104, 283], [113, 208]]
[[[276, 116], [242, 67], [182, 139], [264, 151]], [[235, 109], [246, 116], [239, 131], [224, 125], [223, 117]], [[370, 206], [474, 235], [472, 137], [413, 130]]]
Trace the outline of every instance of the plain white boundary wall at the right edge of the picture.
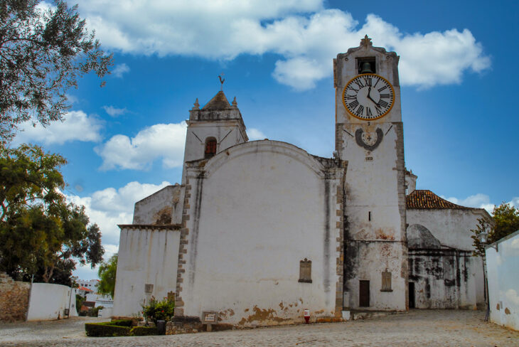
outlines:
[[519, 331], [519, 231], [496, 244], [486, 247], [490, 319]]

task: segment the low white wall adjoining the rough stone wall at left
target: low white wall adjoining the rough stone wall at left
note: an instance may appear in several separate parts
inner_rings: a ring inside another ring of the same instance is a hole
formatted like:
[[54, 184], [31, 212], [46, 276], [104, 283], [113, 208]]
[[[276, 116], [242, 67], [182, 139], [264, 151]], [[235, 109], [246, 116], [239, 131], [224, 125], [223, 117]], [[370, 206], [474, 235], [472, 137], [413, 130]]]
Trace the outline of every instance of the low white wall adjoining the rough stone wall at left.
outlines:
[[31, 284], [28, 321], [63, 319], [65, 309], [69, 309], [69, 316], [77, 316], [75, 289], [61, 284]]

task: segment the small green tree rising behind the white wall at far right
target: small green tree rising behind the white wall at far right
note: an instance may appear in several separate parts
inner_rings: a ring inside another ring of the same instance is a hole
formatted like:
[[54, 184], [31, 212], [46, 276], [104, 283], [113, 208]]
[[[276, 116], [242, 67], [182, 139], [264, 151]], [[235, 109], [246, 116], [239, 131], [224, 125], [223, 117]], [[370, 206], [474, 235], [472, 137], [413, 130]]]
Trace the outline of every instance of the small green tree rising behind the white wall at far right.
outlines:
[[[476, 250], [473, 255], [485, 255], [485, 246], [501, 240], [503, 237], [519, 230], [519, 209], [508, 203], [495, 206], [492, 211], [492, 220], [478, 219], [476, 229], [471, 230], [473, 246]], [[486, 242], [481, 240], [481, 234], [486, 233]]]

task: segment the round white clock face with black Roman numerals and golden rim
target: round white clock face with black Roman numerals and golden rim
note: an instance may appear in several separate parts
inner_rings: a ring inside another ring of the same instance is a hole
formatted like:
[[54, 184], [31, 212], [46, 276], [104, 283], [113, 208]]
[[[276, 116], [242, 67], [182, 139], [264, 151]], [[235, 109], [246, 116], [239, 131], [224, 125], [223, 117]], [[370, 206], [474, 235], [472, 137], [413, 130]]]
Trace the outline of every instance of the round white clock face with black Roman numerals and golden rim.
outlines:
[[395, 90], [385, 78], [365, 73], [352, 78], [343, 90], [343, 104], [358, 119], [384, 117], [395, 103]]

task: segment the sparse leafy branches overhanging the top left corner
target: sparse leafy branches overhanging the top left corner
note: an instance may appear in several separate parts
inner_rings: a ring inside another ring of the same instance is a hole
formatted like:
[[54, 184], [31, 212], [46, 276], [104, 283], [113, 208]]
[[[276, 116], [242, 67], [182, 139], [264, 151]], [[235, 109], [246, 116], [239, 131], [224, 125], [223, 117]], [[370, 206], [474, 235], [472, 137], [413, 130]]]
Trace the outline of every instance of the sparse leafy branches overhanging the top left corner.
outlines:
[[[30, 119], [43, 125], [63, 120], [66, 92], [77, 78], [102, 78], [112, 55], [85, 28], [77, 6], [65, 1], [44, 9], [41, 0], [0, 1], [0, 142], [14, 137]], [[101, 83], [104, 85], [104, 82]]]

